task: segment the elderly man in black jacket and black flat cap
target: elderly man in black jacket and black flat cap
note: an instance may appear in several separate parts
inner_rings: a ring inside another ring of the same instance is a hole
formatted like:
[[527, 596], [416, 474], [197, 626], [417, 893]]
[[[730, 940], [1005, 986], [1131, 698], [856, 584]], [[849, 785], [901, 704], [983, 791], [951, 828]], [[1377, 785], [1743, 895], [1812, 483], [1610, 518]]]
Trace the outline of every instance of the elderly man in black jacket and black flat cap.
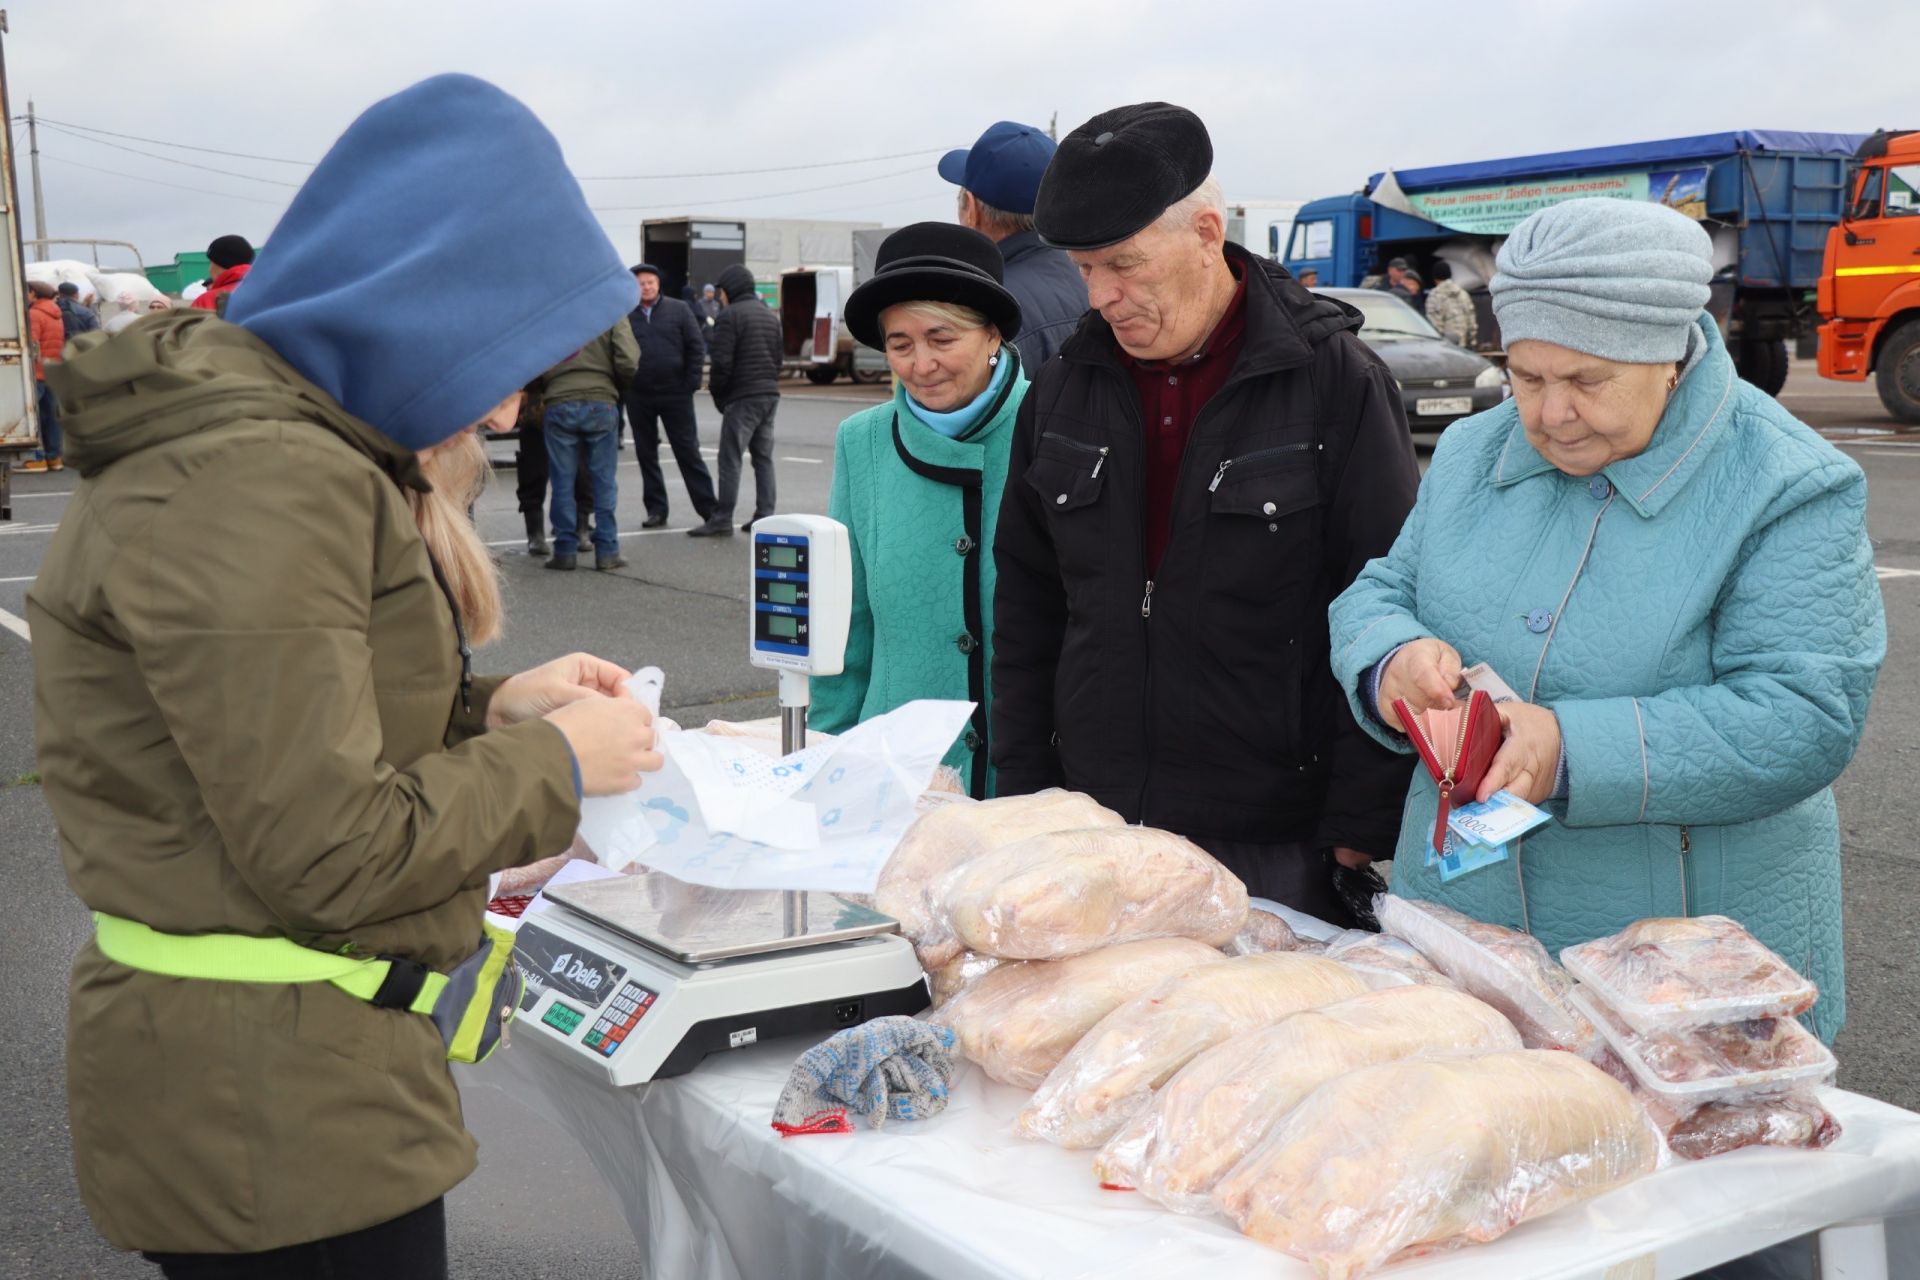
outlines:
[[993, 762], [1000, 794], [1085, 791], [1344, 921], [1332, 862], [1392, 854], [1411, 762], [1354, 723], [1327, 604], [1413, 509], [1413, 447], [1359, 313], [1227, 244], [1212, 163], [1198, 117], [1144, 104], [1041, 186], [1094, 315], [1014, 434]]

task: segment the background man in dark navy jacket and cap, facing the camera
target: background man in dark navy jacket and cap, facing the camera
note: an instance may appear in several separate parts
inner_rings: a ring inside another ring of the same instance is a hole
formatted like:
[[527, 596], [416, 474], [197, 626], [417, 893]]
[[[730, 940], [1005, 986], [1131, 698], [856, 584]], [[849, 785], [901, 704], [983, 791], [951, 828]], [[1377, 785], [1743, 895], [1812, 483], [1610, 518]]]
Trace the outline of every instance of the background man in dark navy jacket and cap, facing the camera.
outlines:
[[626, 420], [634, 424], [634, 457], [639, 459], [639, 487], [647, 518], [639, 528], [666, 524], [666, 476], [660, 474], [660, 426], [674, 451], [680, 478], [693, 501], [693, 514], [705, 524], [714, 514], [714, 478], [701, 459], [701, 434], [693, 424], [693, 393], [701, 390], [707, 365], [703, 326], [687, 303], [660, 297], [660, 269], [634, 267], [639, 305], [626, 317], [639, 344], [639, 372], [626, 388]]

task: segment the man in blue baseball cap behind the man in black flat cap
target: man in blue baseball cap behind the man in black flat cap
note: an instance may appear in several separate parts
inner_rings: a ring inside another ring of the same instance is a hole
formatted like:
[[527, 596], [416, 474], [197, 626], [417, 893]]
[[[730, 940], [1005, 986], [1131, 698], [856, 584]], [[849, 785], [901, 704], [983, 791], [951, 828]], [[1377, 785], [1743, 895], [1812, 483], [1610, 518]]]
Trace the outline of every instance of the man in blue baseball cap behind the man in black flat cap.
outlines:
[[1033, 125], [1000, 121], [964, 152], [941, 157], [941, 177], [960, 188], [960, 223], [998, 242], [1006, 290], [1020, 301], [1020, 363], [1029, 374], [1052, 359], [1087, 313], [1087, 286], [1060, 249], [1033, 230], [1033, 198], [1054, 157], [1054, 140]]

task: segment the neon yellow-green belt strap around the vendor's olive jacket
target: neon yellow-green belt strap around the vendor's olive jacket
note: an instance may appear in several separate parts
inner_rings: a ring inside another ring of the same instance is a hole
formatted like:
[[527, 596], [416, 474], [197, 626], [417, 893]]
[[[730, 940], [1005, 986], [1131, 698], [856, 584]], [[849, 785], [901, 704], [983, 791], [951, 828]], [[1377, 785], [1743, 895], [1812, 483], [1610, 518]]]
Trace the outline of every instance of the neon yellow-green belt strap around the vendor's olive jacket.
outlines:
[[[392, 963], [328, 956], [292, 938], [248, 938], [236, 933], [159, 933], [140, 921], [94, 912], [94, 944], [108, 960], [173, 979], [209, 983], [332, 983], [359, 1000], [372, 1000]], [[447, 975], [428, 973], [407, 1007], [432, 1013]]]

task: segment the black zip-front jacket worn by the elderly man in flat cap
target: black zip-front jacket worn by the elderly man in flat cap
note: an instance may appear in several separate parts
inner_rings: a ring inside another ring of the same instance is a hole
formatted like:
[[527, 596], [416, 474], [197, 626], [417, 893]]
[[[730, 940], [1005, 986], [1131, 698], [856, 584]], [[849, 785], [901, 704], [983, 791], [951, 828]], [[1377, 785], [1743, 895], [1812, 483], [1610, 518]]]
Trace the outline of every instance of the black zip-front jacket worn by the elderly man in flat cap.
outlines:
[[1089, 315], [1033, 370], [995, 535], [998, 791], [1066, 785], [1202, 842], [1390, 858], [1413, 764], [1354, 723], [1327, 604], [1413, 509], [1400, 391], [1357, 311], [1227, 253], [1246, 345], [1194, 422], [1152, 581], [1140, 395], [1114, 332]]

